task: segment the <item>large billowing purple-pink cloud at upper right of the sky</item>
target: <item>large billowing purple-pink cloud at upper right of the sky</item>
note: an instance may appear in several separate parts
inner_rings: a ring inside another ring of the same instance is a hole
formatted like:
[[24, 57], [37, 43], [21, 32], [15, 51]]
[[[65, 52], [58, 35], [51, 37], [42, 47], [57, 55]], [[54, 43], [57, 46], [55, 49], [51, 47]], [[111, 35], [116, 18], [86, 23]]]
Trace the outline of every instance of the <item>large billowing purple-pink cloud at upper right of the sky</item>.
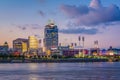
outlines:
[[100, 0], [92, 0], [89, 6], [62, 4], [60, 10], [76, 25], [93, 26], [120, 21], [119, 7], [113, 4], [103, 7]]

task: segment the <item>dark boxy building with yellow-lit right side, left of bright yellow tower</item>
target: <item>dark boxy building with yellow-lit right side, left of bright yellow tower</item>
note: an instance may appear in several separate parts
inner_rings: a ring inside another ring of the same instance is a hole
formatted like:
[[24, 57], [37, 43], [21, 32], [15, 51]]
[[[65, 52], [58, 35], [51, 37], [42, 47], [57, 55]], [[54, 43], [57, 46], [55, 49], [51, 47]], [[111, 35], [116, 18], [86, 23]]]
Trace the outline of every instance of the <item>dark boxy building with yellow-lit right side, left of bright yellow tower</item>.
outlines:
[[28, 39], [18, 38], [13, 40], [13, 50], [19, 53], [28, 51]]

